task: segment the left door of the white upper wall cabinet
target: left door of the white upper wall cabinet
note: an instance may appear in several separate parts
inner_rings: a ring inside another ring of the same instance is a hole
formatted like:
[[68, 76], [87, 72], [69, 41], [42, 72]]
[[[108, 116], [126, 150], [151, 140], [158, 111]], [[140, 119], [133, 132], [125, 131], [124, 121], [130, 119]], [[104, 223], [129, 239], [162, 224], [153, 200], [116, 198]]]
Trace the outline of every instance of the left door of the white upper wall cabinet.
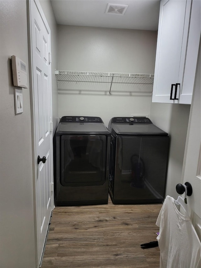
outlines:
[[174, 102], [170, 100], [171, 85], [181, 83], [178, 79], [184, 68], [190, 9], [191, 1], [160, 3], [153, 102]]

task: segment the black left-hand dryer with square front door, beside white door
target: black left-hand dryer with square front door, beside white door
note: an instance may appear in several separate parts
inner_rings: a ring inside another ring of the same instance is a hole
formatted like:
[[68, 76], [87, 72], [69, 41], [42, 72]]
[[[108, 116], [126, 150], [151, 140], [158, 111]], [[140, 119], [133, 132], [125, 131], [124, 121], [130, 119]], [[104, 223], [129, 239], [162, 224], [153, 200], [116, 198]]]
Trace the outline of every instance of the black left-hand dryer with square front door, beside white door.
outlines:
[[100, 117], [61, 118], [56, 130], [56, 205], [108, 203], [110, 141]]

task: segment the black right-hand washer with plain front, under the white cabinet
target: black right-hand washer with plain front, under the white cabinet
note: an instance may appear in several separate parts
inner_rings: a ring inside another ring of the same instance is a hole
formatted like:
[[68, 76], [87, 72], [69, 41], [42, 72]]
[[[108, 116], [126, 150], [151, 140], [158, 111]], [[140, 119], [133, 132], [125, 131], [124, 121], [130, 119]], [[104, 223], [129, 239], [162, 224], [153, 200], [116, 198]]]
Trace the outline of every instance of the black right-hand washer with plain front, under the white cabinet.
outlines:
[[114, 204], [161, 203], [165, 197], [168, 134], [146, 117], [114, 117], [109, 193]]

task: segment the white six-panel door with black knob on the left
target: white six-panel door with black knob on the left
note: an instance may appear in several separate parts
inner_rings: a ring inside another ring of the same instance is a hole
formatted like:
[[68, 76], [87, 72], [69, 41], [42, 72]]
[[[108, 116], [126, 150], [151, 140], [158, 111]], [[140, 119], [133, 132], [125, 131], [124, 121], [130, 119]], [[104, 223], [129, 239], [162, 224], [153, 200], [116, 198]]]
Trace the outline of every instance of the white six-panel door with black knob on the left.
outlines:
[[[35, 248], [36, 267], [39, 267], [42, 259], [43, 245], [45, 243], [44, 234], [46, 237], [49, 219], [54, 206], [54, 194], [51, 187], [51, 183], [53, 182], [53, 137], [52, 131], [50, 130], [50, 122], [52, 121], [52, 72], [48, 57], [49, 52], [51, 52], [51, 31], [39, 0], [27, 1], [27, 14], [34, 185]], [[33, 40], [35, 40], [34, 44]], [[40, 79], [38, 79], [39, 76]], [[46, 94], [48, 94], [48, 102], [45, 98]], [[40, 98], [38, 96], [40, 96]], [[41, 111], [40, 107], [43, 107]], [[48, 116], [45, 116], [45, 118], [43, 118], [44, 122], [42, 122], [41, 113], [44, 111], [48, 111]], [[38, 129], [37, 126], [39, 125], [41, 127]], [[40, 156], [46, 156], [47, 161], [44, 164], [42, 162], [37, 164], [37, 156], [39, 155], [38, 150], [44, 147], [43, 143], [46, 139], [49, 141], [49, 149], [42, 152], [42, 155], [40, 153]], [[44, 181], [41, 181], [41, 175], [43, 176]], [[39, 211], [42, 213], [39, 213]], [[46, 215], [45, 211], [49, 211], [50, 213], [48, 212], [48, 215]], [[43, 236], [41, 238], [40, 234], [42, 233]]]

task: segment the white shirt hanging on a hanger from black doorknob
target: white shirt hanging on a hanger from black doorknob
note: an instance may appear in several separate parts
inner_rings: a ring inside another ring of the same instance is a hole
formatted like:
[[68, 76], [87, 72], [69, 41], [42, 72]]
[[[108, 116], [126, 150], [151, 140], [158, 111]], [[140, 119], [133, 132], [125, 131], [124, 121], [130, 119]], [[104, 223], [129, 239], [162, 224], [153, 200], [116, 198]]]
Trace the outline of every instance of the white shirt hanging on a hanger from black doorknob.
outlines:
[[160, 268], [200, 268], [201, 244], [189, 216], [182, 215], [167, 195], [156, 225]]

